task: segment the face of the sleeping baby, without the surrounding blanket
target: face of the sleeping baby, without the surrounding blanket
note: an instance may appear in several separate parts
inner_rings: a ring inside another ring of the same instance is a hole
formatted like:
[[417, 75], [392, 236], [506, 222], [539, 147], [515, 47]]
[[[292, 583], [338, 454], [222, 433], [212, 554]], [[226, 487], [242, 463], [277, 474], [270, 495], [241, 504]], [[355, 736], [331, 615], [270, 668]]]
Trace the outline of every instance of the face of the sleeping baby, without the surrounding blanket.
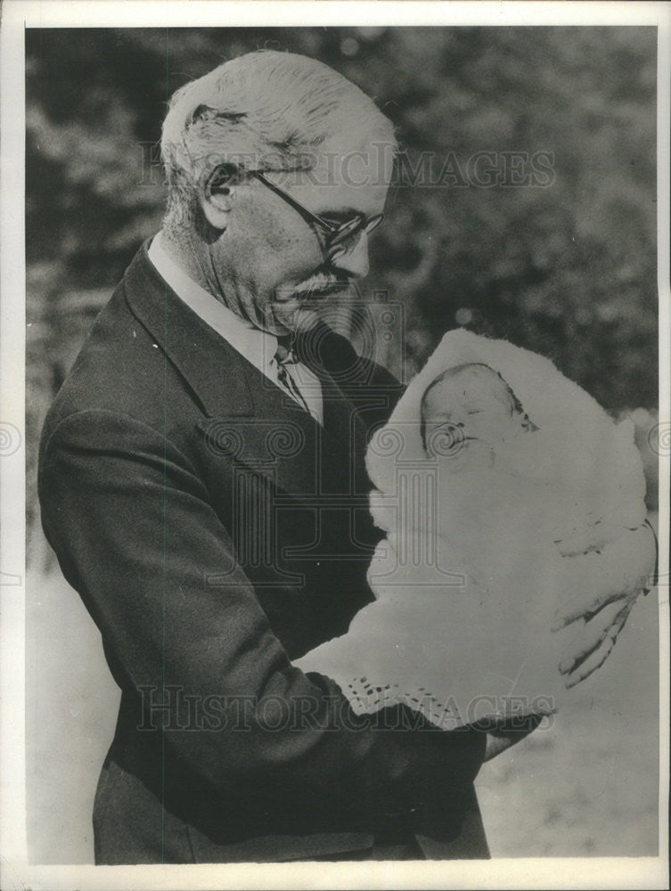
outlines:
[[427, 394], [427, 452], [457, 454], [471, 443], [495, 449], [523, 432], [524, 421], [524, 415], [513, 412], [502, 381], [494, 375], [457, 374], [439, 380]]

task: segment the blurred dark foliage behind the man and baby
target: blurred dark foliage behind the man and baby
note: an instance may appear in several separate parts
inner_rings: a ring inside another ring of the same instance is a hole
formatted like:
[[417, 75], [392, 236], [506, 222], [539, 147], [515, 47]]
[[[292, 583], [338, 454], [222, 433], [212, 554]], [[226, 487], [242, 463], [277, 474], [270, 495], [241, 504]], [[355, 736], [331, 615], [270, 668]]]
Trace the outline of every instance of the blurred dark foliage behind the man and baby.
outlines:
[[[398, 127], [365, 285], [405, 309], [392, 370], [407, 378], [457, 325], [550, 356], [614, 415], [634, 412], [654, 506], [655, 29], [29, 29], [29, 527], [45, 410], [160, 227], [168, 97], [263, 47], [326, 62]], [[481, 152], [488, 180], [470, 166]], [[547, 153], [544, 175], [515, 185], [506, 152]]]

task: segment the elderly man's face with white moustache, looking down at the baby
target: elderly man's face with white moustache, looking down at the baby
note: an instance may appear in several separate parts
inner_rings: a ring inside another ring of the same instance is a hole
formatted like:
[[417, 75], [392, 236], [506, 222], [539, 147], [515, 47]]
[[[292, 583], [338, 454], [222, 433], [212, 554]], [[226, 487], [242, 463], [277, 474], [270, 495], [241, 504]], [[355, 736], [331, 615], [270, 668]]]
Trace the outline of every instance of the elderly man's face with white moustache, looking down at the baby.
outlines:
[[[340, 224], [382, 212], [392, 163], [389, 146], [357, 144], [350, 135], [324, 143], [312, 170], [266, 176], [305, 208]], [[237, 188], [229, 224], [209, 252], [230, 308], [284, 334], [309, 327], [319, 300], [368, 272], [366, 233], [329, 261], [323, 243], [323, 230], [250, 177]]]

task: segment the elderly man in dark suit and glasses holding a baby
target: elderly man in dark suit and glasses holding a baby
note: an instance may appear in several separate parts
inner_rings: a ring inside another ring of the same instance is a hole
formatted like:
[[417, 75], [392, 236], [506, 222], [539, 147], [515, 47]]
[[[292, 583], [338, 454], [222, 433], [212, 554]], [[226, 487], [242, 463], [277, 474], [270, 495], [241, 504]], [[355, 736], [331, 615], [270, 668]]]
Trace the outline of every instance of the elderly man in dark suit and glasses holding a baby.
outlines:
[[[122, 691], [96, 862], [487, 856], [484, 733], [405, 707], [356, 718], [290, 662], [372, 597], [364, 448], [400, 388], [313, 307], [366, 274], [394, 146], [356, 86], [289, 53], [170, 104], [164, 227], [40, 457], [46, 535]], [[577, 605], [614, 604], [579, 644], [593, 661], [635, 587]]]

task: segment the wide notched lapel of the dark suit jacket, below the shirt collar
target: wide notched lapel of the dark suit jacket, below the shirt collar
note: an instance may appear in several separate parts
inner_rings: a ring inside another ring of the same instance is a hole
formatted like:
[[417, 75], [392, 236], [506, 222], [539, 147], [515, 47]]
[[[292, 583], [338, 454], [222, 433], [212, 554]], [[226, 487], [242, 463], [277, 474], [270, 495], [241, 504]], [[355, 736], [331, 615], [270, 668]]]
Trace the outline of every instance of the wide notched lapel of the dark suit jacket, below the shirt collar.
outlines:
[[151, 263], [148, 246], [127, 269], [127, 303], [202, 406], [198, 427], [210, 454], [234, 458], [294, 495], [352, 491], [361, 424], [329, 372], [319, 375], [322, 428], [184, 304]]

